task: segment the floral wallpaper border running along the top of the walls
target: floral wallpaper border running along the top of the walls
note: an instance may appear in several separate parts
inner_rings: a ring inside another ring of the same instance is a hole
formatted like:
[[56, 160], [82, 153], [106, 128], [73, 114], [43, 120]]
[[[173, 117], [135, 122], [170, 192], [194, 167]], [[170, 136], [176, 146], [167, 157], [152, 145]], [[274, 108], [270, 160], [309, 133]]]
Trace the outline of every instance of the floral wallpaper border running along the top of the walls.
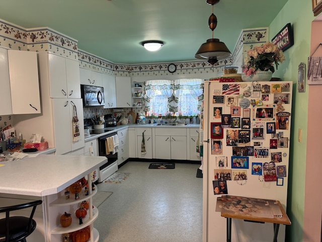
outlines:
[[243, 29], [240, 36], [243, 38], [239, 37], [232, 57], [221, 59], [214, 67], [206, 61], [180, 62], [175, 63], [177, 65], [177, 72], [171, 74], [168, 72], [168, 65], [170, 63], [145, 65], [113, 64], [91, 53], [79, 50], [77, 48], [77, 40], [64, 36], [52, 29], [24, 29], [0, 19], [0, 46], [28, 51], [50, 51], [68, 58], [78, 58], [79, 67], [114, 76], [162, 76], [222, 72], [221, 67], [232, 65], [244, 44], [264, 41], [268, 36], [268, 28]]

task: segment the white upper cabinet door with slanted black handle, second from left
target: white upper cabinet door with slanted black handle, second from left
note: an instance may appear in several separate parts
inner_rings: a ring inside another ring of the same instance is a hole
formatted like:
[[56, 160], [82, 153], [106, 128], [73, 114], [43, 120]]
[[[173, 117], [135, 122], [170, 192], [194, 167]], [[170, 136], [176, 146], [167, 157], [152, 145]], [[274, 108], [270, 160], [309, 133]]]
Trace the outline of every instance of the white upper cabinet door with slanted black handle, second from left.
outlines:
[[8, 50], [13, 114], [40, 113], [37, 52]]

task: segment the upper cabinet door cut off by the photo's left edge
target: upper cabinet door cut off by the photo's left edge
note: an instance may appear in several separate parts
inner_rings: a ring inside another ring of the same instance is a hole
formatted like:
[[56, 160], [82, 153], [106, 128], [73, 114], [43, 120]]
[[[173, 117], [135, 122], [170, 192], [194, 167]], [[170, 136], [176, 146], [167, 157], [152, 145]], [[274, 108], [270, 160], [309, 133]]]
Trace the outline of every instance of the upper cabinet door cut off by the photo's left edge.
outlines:
[[0, 115], [12, 114], [8, 52], [4, 48], [0, 48], [0, 80]]

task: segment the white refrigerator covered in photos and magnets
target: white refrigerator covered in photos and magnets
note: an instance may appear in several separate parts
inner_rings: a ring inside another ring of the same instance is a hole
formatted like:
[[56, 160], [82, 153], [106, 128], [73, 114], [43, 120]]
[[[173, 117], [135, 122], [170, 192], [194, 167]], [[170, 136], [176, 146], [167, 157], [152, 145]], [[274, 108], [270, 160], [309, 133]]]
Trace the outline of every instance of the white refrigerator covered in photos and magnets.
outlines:
[[[206, 81], [204, 96], [203, 242], [221, 242], [222, 195], [279, 200], [286, 211], [292, 82]], [[232, 219], [231, 241], [272, 241], [273, 233], [272, 223]]]

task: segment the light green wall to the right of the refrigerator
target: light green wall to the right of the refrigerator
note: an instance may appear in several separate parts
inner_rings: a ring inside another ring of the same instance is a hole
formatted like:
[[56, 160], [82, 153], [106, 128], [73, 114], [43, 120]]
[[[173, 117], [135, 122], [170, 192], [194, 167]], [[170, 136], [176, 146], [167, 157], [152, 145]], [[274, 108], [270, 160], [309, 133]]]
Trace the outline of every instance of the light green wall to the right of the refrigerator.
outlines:
[[[292, 222], [286, 227], [285, 241], [302, 241], [304, 217], [305, 158], [308, 87], [306, 92], [297, 92], [297, 69], [303, 62], [307, 68], [310, 54], [311, 22], [314, 20], [310, 0], [289, 0], [269, 26], [272, 39], [287, 23], [291, 23], [294, 45], [285, 50], [286, 62], [282, 63], [273, 77], [293, 82], [293, 102], [291, 114], [290, 162], [288, 177], [287, 214]], [[299, 143], [298, 129], [302, 129], [302, 143]]]

